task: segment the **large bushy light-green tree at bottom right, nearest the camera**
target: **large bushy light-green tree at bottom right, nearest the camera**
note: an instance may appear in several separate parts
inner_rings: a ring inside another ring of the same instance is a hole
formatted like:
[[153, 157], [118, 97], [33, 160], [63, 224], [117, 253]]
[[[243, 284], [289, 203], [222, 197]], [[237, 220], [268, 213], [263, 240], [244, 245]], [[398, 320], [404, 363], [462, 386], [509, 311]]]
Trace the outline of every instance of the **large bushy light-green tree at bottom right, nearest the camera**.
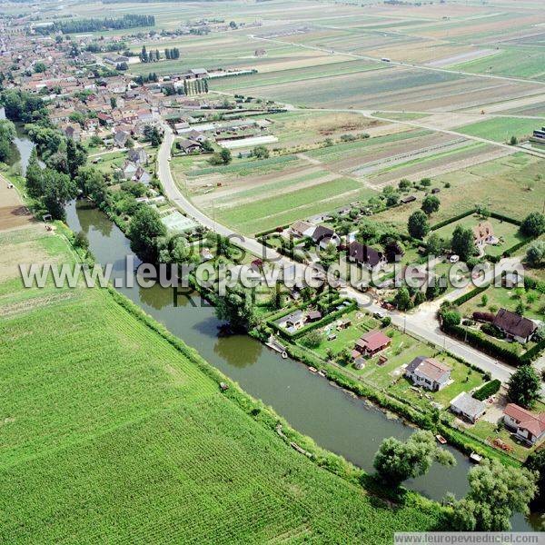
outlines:
[[451, 526], [465, 531], [510, 530], [513, 513], [530, 512], [537, 491], [537, 473], [484, 459], [468, 475], [470, 491], [453, 504]]

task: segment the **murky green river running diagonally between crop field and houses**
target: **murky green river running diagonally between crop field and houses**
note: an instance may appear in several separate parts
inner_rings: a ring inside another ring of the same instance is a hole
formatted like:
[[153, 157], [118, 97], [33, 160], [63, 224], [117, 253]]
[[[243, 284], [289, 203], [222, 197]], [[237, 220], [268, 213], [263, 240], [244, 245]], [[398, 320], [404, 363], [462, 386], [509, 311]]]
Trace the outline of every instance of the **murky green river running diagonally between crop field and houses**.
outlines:
[[[25, 169], [33, 144], [18, 129], [15, 145], [18, 160]], [[133, 254], [124, 233], [104, 213], [77, 206], [75, 202], [67, 206], [66, 214], [70, 228], [87, 235], [97, 262], [113, 263], [114, 278], [124, 278], [125, 257]], [[387, 416], [366, 401], [355, 399], [312, 374], [302, 363], [282, 360], [279, 354], [248, 335], [220, 336], [222, 322], [196, 292], [190, 297], [179, 297], [174, 306], [172, 290], [160, 286], [120, 291], [213, 366], [238, 381], [245, 391], [270, 405], [295, 429], [365, 471], [373, 471], [372, 460], [384, 438], [393, 436], [404, 440], [414, 431], [400, 419]], [[434, 464], [427, 475], [407, 481], [405, 485], [433, 500], [441, 500], [448, 491], [461, 498], [468, 490], [467, 472], [471, 463], [460, 451], [447, 448], [456, 458], [455, 467]], [[525, 520], [516, 515], [512, 519], [513, 530], [532, 530], [531, 522], [535, 526], [537, 517]]]

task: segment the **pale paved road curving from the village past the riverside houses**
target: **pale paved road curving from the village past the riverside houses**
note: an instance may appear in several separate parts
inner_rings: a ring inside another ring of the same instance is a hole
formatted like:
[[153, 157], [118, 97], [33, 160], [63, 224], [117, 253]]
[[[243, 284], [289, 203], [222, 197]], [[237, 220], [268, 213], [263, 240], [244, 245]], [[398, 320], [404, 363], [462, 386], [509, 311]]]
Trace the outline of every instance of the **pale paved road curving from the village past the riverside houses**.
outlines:
[[[196, 208], [189, 199], [187, 199], [180, 191], [176, 183], [174, 183], [173, 175], [170, 169], [170, 157], [171, 148], [173, 145], [173, 132], [167, 125], [164, 126], [164, 138], [163, 144], [157, 154], [157, 174], [159, 179], [163, 183], [163, 189], [166, 196], [175, 203], [184, 213], [193, 217], [195, 221], [201, 223], [208, 229], [211, 229], [215, 233], [220, 233], [223, 236], [230, 236], [233, 243], [236, 243], [244, 250], [253, 253], [255, 255], [263, 256], [265, 259], [274, 260], [287, 266], [300, 266], [299, 263], [294, 263], [281, 254], [273, 251], [271, 248], [263, 246], [262, 243], [254, 240], [251, 237], [244, 237], [240, 233], [234, 232], [229, 227], [221, 223], [215, 222], [212, 218], [204, 214], [198, 208]], [[500, 270], [509, 268], [514, 260], [503, 260], [500, 265]], [[498, 270], [497, 272], [498, 273]], [[492, 272], [487, 272], [485, 278], [490, 280]], [[439, 324], [436, 319], [436, 309], [425, 305], [421, 307], [421, 310], [414, 313], [401, 313], [401, 312], [386, 312], [376, 303], [370, 300], [369, 295], [359, 292], [352, 287], [343, 289], [344, 294], [347, 297], [358, 302], [368, 312], [381, 311], [391, 316], [391, 321], [397, 327], [412, 333], [413, 335], [420, 337], [421, 339], [432, 342], [438, 347], [442, 347], [445, 350], [452, 352], [453, 354], [461, 357], [467, 362], [471, 362], [479, 367], [484, 372], [490, 372], [493, 378], [500, 381], [508, 381], [514, 369], [508, 365], [498, 362], [494, 358], [490, 358], [486, 354], [472, 349], [470, 346], [463, 342], [456, 341], [444, 335], [439, 329]], [[461, 292], [453, 292], [449, 295], [450, 298], [455, 298]]]

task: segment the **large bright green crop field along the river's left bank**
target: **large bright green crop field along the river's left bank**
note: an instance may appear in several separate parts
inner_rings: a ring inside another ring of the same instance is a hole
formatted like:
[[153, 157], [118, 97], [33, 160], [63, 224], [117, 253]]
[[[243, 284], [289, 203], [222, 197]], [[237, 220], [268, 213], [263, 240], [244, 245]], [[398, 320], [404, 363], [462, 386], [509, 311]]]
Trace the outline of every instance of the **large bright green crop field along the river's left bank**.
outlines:
[[[2, 253], [27, 243], [25, 231], [4, 234]], [[59, 237], [33, 236], [70, 259]], [[389, 543], [393, 531], [437, 523], [293, 451], [224, 396], [193, 352], [178, 352], [109, 292], [45, 298], [19, 287], [8, 297], [2, 542]]]

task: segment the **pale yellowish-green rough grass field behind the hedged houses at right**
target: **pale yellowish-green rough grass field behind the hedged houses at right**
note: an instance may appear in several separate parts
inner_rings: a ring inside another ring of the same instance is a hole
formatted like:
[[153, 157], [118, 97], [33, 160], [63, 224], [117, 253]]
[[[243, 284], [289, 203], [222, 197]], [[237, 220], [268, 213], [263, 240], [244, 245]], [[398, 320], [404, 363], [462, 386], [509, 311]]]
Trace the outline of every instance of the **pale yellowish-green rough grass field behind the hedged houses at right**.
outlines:
[[[448, 191], [439, 195], [441, 207], [433, 214], [433, 223], [463, 213], [475, 203], [484, 203], [494, 212], [517, 219], [532, 211], [540, 212], [545, 200], [545, 186], [540, 182], [544, 168], [542, 159], [513, 154], [433, 177], [434, 186], [451, 184]], [[420, 203], [403, 205], [394, 215], [380, 213], [375, 217], [404, 229], [408, 217], [418, 207]]]

